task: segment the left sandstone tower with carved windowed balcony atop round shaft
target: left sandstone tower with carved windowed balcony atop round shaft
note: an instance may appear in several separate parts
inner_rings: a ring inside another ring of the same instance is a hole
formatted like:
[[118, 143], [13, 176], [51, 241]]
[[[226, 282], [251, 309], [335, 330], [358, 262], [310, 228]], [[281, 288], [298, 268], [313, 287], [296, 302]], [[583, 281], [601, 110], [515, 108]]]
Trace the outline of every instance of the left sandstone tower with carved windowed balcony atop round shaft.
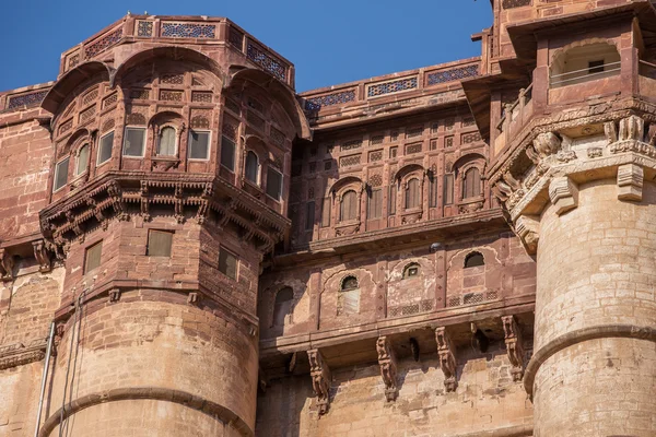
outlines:
[[293, 67], [225, 19], [128, 15], [81, 47], [42, 104], [66, 280], [39, 436], [253, 436], [260, 264], [309, 135]]

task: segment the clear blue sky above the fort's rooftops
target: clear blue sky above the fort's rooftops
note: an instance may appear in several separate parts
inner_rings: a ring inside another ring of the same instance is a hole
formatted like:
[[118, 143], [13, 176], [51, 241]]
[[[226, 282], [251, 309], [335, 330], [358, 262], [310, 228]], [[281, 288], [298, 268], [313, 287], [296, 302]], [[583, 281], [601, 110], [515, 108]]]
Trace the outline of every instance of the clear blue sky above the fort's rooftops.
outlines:
[[55, 80], [62, 51], [127, 11], [227, 16], [296, 66], [298, 92], [480, 55], [488, 0], [0, 0], [0, 91]]

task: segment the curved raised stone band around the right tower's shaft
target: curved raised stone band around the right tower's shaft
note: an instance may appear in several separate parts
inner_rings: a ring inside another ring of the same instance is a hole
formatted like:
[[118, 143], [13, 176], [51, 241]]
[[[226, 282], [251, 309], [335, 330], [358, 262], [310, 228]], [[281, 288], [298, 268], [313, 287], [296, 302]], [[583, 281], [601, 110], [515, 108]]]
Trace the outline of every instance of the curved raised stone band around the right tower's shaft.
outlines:
[[646, 340], [656, 343], [656, 329], [649, 327], [637, 327], [634, 324], [602, 324], [577, 329], [567, 332], [549, 343], [544, 344], [537, 351], [528, 366], [524, 376], [524, 388], [530, 398], [532, 398], [534, 381], [540, 366], [555, 355], [555, 353], [570, 347], [574, 344], [583, 343], [596, 339], [637, 339]]

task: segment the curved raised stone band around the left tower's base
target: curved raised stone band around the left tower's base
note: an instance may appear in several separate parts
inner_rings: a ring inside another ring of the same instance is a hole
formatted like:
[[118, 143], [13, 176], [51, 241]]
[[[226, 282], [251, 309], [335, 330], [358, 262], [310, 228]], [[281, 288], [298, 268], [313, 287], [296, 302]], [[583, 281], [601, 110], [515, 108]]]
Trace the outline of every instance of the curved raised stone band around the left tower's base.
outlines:
[[177, 403], [189, 409], [198, 410], [211, 417], [219, 418], [224, 424], [233, 426], [244, 437], [254, 436], [253, 429], [250, 429], [242, 417], [216, 402], [181, 390], [161, 387], [129, 387], [86, 394], [85, 397], [69, 402], [52, 413], [52, 415], [44, 422], [44, 425], [38, 432], [38, 437], [50, 436], [57, 425], [61, 423], [61, 420], [67, 420], [82, 410], [102, 403], [128, 400], [152, 400]]

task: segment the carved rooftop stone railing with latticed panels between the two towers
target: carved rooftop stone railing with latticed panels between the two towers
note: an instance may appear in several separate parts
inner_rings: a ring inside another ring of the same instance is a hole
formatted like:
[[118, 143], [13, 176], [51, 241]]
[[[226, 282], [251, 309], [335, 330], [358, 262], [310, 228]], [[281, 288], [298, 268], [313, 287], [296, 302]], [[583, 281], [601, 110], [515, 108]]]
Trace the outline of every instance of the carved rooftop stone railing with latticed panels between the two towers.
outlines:
[[393, 75], [352, 82], [331, 88], [311, 91], [302, 95], [306, 113], [332, 110], [345, 105], [374, 102], [386, 96], [396, 96], [423, 88], [440, 87], [480, 74], [480, 59], [418, 69]]

